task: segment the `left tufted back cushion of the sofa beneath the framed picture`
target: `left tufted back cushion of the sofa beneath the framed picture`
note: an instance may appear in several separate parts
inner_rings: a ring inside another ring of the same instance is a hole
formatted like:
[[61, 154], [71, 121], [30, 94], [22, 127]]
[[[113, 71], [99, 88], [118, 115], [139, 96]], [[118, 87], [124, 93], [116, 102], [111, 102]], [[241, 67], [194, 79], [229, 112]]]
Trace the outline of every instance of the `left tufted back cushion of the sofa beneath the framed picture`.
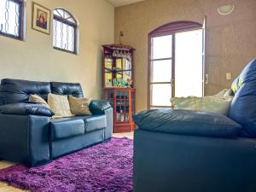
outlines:
[[36, 94], [47, 100], [50, 93], [48, 82], [27, 81], [20, 79], [2, 79], [0, 85], [0, 103], [27, 102], [31, 94]]

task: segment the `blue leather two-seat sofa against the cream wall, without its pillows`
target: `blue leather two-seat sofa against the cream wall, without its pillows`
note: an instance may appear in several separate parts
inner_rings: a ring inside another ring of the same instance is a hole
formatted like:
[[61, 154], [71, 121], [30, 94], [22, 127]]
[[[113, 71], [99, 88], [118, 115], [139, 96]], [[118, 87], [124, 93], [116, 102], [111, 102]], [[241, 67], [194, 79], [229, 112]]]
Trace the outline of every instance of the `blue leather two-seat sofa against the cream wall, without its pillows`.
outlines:
[[52, 112], [28, 102], [30, 94], [83, 97], [80, 84], [2, 79], [0, 85], [0, 158], [37, 166], [112, 137], [113, 109], [90, 102], [91, 116], [50, 119]]

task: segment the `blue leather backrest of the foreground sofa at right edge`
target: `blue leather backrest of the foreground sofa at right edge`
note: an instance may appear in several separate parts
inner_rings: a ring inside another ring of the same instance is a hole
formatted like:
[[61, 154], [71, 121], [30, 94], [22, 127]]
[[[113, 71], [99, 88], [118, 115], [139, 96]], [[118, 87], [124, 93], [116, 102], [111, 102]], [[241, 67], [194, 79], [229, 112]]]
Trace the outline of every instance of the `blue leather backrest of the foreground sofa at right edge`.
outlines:
[[230, 119], [242, 125], [241, 137], [256, 137], [256, 59], [247, 64], [232, 84], [235, 97]]

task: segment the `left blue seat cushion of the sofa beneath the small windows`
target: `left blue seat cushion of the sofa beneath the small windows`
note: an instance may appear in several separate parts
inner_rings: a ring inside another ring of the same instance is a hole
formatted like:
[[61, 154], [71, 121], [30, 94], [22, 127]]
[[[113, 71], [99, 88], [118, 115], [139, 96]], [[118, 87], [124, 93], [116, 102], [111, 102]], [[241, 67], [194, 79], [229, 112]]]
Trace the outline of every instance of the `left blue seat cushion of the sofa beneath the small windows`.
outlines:
[[51, 139], [58, 140], [84, 134], [84, 120], [74, 118], [52, 119], [50, 121]]

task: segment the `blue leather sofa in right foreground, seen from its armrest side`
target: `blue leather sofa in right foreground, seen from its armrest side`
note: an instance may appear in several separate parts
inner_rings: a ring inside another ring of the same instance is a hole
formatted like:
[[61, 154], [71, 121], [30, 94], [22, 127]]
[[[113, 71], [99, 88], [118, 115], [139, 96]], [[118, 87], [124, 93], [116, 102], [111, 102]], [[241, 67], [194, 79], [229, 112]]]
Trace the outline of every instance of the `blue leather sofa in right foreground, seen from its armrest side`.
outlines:
[[229, 117], [148, 110], [134, 121], [134, 192], [256, 191], [256, 60], [232, 84]]

